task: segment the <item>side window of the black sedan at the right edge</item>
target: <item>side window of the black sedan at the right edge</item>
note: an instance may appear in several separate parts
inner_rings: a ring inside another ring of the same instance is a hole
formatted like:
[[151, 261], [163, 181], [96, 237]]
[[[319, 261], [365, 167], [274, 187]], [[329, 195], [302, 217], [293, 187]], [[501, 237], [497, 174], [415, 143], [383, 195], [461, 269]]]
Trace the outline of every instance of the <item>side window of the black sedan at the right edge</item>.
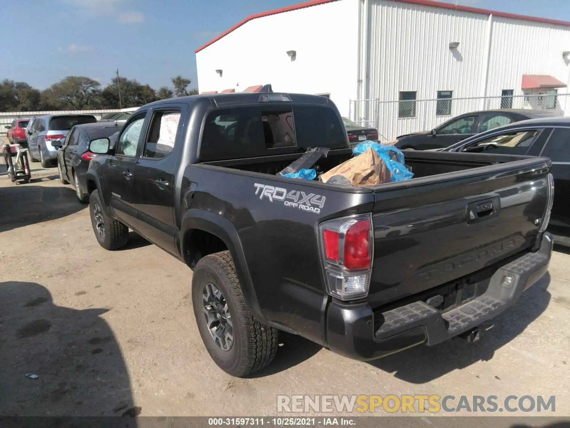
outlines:
[[505, 131], [463, 148], [465, 152], [524, 155], [542, 130]]

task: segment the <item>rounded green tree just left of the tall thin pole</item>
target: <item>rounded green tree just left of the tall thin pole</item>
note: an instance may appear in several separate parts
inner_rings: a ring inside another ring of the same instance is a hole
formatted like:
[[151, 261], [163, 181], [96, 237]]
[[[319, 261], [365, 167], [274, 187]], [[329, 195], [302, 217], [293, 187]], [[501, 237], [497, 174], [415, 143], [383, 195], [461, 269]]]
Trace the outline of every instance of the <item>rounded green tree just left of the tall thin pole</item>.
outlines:
[[100, 107], [101, 84], [85, 76], [67, 76], [50, 87], [56, 100], [66, 108], [83, 110]]

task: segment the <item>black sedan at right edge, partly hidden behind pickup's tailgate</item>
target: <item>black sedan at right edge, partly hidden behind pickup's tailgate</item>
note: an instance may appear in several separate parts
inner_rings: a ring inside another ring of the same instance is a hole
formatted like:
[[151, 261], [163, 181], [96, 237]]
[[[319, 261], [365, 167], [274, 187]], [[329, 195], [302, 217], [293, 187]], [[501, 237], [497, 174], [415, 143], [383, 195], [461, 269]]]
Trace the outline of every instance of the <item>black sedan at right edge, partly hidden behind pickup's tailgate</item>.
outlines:
[[555, 243], [570, 246], [570, 118], [523, 120], [475, 135], [443, 151], [550, 158], [554, 201], [548, 231]]

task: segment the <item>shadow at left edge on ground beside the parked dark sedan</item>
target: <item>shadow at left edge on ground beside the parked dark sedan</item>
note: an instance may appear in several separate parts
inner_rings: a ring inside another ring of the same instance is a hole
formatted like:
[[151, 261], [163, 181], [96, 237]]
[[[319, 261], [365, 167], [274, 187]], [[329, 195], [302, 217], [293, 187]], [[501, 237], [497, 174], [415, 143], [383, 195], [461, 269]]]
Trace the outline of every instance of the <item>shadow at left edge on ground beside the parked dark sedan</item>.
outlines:
[[0, 201], [0, 232], [60, 219], [87, 207], [79, 203], [74, 189], [62, 186], [0, 187]]

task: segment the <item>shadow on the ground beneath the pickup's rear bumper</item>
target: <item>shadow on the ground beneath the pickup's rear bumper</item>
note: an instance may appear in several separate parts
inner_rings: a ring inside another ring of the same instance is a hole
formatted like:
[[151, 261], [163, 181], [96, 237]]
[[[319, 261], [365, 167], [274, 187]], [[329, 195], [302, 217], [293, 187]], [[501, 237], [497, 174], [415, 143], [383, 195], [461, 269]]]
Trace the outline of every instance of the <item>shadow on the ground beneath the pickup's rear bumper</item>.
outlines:
[[435, 346], [417, 345], [369, 364], [406, 382], [425, 383], [477, 361], [491, 360], [496, 350], [519, 336], [546, 310], [551, 299], [549, 284], [547, 272], [510, 309], [483, 324], [481, 340], [473, 344], [454, 339]]

